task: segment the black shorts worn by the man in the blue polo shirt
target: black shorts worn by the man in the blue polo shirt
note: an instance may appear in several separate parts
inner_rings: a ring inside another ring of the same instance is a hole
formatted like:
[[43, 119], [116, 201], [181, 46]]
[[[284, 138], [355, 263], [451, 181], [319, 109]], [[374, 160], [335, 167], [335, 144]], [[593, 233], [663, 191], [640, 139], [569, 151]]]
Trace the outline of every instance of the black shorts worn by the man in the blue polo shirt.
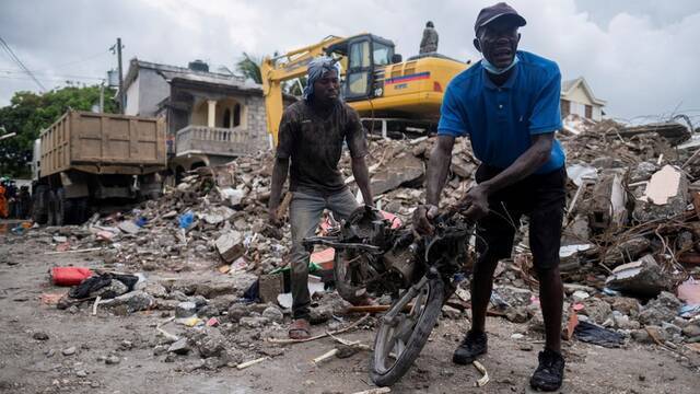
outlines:
[[[482, 164], [475, 178], [482, 183], [501, 171]], [[489, 215], [479, 220], [477, 229], [478, 251], [493, 254], [499, 259], [510, 257], [521, 216], [525, 215], [529, 217], [529, 247], [535, 268], [557, 267], [567, 198], [565, 182], [567, 170], [562, 166], [547, 174], [529, 175], [489, 196]]]

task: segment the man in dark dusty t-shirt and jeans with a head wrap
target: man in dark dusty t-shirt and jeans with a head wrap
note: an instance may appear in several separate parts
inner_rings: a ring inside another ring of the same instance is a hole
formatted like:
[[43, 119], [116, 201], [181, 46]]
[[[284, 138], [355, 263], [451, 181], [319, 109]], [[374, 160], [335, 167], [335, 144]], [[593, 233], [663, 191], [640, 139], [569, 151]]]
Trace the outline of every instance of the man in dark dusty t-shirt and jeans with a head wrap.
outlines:
[[352, 174], [364, 204], [373, 205], [364, 161], [368, 154], [364, 129], [358, 113], [340, 100], [339, 91], [335, 60], [327, 57], [314, 59], [308, 65], [304, 100], [284, 109], [279, 128], [269, 217], [273, 225], [280, 225], [277, 209], [289, 170], [294, 318], [289, 336], [295, 339], [310, 337], [310, 255], [302, 241], [314, 235], [324, 209], [331, 210], [338, 218], [347, 218], [358, 207], [338, 170], [343, 142], [350, 150]]

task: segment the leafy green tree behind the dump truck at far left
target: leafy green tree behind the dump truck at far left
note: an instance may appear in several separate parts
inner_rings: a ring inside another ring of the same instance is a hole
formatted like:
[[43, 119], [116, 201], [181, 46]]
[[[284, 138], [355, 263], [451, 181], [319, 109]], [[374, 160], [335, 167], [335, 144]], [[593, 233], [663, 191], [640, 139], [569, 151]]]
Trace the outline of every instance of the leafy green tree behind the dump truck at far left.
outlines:
[[[106, 113], [117, 113], [117, 103], [112, 99], [115, 91], [105, 89]], [[70, 85], [44, 94], [16, 92], [10, 105], [0, 108], [0, 126], [5, 132], [16, 132], [0, 141], [0, 174], [11, 177], [28, 177], [34, 140], [40, 131], [66, 113], [66, 111], [90, 111], [100, 103], [100, 85]], [[0, 131], [2, 132], [2, 131]]]

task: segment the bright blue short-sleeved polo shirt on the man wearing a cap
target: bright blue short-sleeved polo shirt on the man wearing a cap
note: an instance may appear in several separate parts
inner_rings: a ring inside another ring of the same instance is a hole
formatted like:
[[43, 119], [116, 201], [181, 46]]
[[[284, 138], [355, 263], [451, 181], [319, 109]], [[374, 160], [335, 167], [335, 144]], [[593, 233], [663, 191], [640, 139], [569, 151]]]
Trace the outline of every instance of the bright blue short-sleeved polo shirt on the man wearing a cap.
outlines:
[[[505, 169], [532, 144], [530, 136], [562, 128], [559, 107], [561, 73], [556, 62], [526, 51], [508, 81], [497, 86], [481, 61], [455, 77], [443, 99], [438, 135], [469, 136], [482, 163]], [[555, 139], [549, 161], [536, 174], [564, 165]]]

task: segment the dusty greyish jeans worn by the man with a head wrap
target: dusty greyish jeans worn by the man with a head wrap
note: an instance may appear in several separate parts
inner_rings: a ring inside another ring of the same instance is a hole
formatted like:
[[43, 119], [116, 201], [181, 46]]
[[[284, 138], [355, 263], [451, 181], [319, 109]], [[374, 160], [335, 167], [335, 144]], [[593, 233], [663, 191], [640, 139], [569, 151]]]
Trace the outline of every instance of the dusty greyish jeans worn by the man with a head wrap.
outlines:
[[329, 209], [336, 219], [346, 219], [358, 208], [349, 189], [330, 196], [293, 192], [290, 206], [292, 225], [292, 314], [294, 318], [308, 318], [311, 294], [308, 293], [308, 257], [302, 241], [314, 236], [324, 209]]

